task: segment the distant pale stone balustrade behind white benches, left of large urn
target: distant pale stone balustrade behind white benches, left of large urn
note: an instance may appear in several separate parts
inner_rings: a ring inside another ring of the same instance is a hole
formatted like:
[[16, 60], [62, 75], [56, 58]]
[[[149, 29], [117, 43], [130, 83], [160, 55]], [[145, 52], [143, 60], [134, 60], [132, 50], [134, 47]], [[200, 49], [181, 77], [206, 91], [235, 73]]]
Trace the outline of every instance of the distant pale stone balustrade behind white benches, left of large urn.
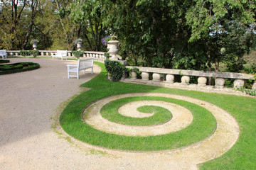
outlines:
[[[9, 57], [21, 57], [21, 55], [18, 55], [18, 52], [21, 50], [6, 50]], [[56, 50], [38, 50], [40, 52], [40, 55], [38, 57], [51, 57], [52, 52], [57, 52]], [[69, 58], [76, 58], [72, 51], [68, 51], [68, 57]], [[93, 51], [85, 51], [83, 54], [83, 57], [85, 58], [91, 58], [94, 57], [95, 60], [105, 61], [105, 52], [93, 52]]]

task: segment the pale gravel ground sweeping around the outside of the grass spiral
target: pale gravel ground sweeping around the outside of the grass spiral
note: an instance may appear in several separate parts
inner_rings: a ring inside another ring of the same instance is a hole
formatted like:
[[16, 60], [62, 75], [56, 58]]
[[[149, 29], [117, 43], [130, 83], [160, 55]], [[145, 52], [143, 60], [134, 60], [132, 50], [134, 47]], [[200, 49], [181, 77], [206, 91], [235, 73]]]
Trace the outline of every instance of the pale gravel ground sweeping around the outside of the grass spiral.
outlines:
[[[75, 64], [75, 61], [10, 60], [37, 62], [41, 68], [0, 76], [0, 169], [198, 169], [196, 164], [206, 161], [194, 162], [193, 157], [201, 155], [197, 145], [191, 147], [190, 152], [189, 149], [178, 149], [164, 153], [132, 153], [95, 149], [72, 138], [69, 142], [65, 135], [54, 132], [50, 118], [57, 114], [60, 103], [80, 93], [79, 85], [95, 77], [100, 67], [95, 65], [94, 74], [84, 74], [78, 80], [68, 79], [65, 66]], [[220, 109], [220, 112], [223, 111]], [[223, 128], [231, 133], [227, 140], [233, 141], [224, 146], [225, 151], [232, 147], [239, 135], [235, 120], [230, 118], [227, 122], [235, 130]], [[218, 148], [218, 142], [215, 141], [214, 147], [206, 146], [207, 141], [201, 145], [206, 149]], [[221, 154], [219, 152], [217, 156]]]

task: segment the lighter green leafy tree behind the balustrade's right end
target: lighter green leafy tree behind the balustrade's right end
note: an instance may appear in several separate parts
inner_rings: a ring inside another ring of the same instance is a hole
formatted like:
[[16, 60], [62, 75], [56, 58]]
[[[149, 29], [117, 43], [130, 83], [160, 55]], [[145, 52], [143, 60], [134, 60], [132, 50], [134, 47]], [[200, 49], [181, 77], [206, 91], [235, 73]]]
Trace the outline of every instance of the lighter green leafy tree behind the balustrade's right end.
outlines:
[[186, 12], [192, 32], [189, 42], [205, 42], [208, 69], [215, 63], [218, 71], [224, 61], [237, 64], [236, 69], [228, 65], [228, 71], [241, 69], [242, 57], [250, 52], [255, 36], [255, 1], [198, 0], [191, 1], [190, 6]]

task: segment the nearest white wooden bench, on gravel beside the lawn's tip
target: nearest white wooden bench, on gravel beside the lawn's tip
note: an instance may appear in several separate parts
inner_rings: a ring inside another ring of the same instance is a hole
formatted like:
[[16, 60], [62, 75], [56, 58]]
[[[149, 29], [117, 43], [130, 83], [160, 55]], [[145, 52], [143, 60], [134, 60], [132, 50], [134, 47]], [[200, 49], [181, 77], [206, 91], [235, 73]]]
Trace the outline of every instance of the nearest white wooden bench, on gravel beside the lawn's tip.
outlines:
[[[85, 74], [85, 69], [92, 69], [91, 72], [93, 74], [93, 58], [84, 59], [84, 60], [79, 59], [77, 65], [67, 64], [67, 66], [68, 66], [68, 79], [70, 79], [70, 77], [78, 77], [79, 79], [79, 72], [83, 70]], [[71, 72], [76, 73], [76, 75], [71, 75], [70, 74]]]

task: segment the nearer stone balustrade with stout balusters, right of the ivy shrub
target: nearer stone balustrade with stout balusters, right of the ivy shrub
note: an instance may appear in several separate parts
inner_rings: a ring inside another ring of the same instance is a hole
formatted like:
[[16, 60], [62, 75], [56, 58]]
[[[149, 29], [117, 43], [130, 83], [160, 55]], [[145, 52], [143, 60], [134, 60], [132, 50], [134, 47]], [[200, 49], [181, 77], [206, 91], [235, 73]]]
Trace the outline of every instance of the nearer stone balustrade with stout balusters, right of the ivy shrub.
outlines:
[[[132, 69], [134, 67], [127, 66], [127, 68]], [[225, 79], [235, 79], [234, 87], [240, 88], [244, 86], [246, 79], [255, 80], [253, 74], [243, 74], [243, 73], [233, 73], [233, 72], [203, 72], [196, 70], [185, 70], [185, 69], [161, 69], [153, 67], [136, 67], [139, 72], [142, 72], [142, 81], [149, 81], [149, 73], [152, 74], [152, 81], [161, 81], [161, 74], [165, 75], [165, 84], [174, 84], [175, 75], [181, 76], [181, 85], [188, 85], [191, 77], [198, 77], [197, 86], [206, 86], [208, 77], [215, 78], [215, 88], [223, 89], [225, 84]], [[137, 79], [136, 72], [132, 72], [132, 80]], [[256, 89], [256, 83], [252, 86], [252, 89]]]

